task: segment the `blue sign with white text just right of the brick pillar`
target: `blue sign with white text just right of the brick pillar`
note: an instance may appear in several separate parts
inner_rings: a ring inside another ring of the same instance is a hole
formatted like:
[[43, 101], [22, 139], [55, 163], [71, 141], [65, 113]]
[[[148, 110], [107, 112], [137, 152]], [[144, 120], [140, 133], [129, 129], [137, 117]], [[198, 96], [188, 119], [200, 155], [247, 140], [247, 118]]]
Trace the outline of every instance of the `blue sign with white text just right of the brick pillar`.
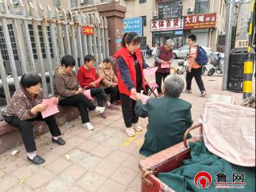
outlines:
[[123, 31], [125, 33], [136, 32], [138, 36], [142, 36], [142, 18], [123, 19]]

